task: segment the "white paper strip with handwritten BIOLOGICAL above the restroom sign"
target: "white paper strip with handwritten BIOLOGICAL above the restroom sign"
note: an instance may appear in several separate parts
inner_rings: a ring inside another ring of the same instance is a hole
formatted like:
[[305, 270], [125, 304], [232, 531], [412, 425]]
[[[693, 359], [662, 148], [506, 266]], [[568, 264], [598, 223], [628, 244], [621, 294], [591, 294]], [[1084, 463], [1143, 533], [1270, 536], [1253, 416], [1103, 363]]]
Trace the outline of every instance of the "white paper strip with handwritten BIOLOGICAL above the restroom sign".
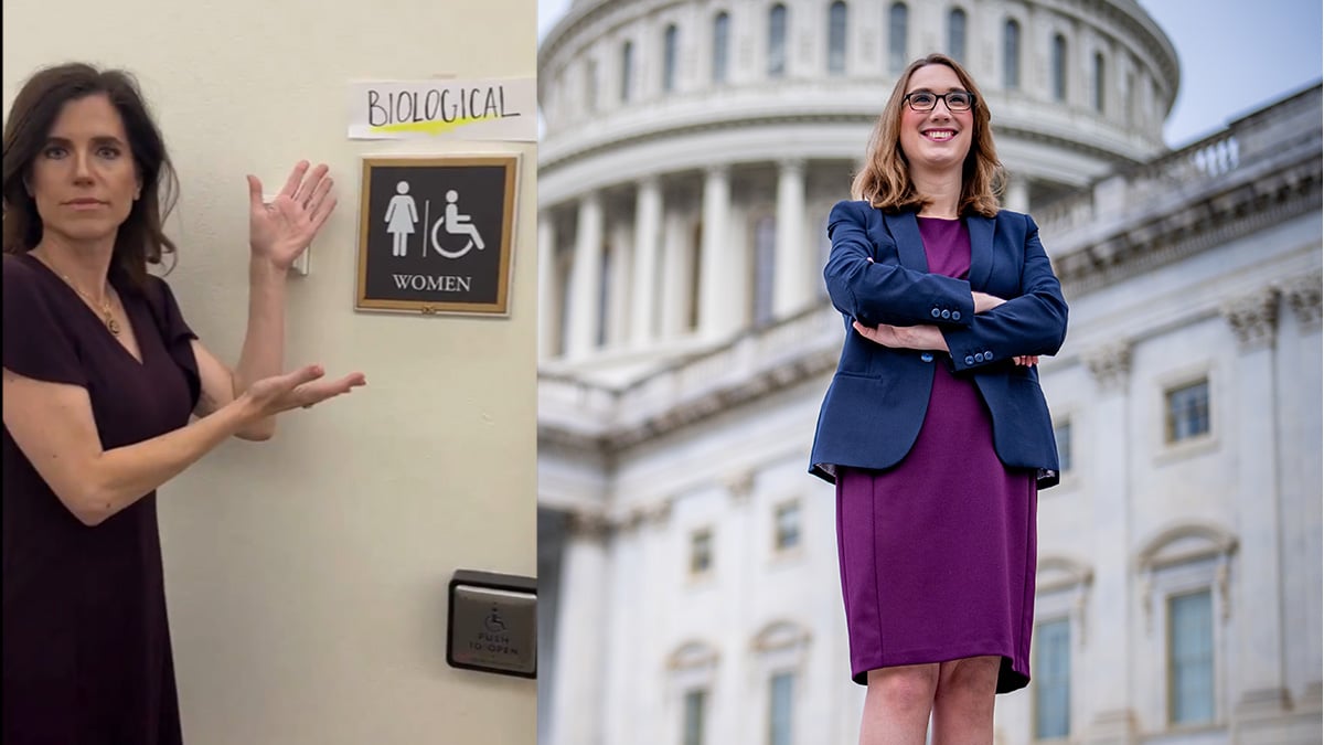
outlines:
[[350, 84], [350, 139], [538, 141], [528, 78]]

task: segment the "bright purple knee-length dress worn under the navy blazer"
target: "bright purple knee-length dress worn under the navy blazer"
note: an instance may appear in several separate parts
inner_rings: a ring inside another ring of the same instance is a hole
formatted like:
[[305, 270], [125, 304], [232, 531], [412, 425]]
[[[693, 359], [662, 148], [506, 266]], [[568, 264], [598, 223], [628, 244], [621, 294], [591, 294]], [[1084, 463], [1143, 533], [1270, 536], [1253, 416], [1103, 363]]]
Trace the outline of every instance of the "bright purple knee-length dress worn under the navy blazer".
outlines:
[[[964, 278], [963, 220], [919, 219], [929, 272]], [[993, 451], [974, 383], [933, 365], [924, 427], [887, 471], [837, 469], [837, 537], [855, 683], [870, 669], [1002, 658], [997, 692], [1030, 683], [1035, 502]]]

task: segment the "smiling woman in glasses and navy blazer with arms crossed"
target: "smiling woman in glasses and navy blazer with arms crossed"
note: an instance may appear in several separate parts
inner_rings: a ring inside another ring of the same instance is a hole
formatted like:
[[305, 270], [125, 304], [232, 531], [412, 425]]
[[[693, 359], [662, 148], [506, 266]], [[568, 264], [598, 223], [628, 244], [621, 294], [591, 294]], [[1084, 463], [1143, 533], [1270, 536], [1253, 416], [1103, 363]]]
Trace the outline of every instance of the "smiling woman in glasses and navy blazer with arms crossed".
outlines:
[[837, 485], [862, 744], [993, 742], [1030, 680], [1035, 502], [1057, 484], [1038, 357], [1067, 305], [970, 76], [931, 54], [896, 81], [824, 278], [846, 339], [810, 472]]

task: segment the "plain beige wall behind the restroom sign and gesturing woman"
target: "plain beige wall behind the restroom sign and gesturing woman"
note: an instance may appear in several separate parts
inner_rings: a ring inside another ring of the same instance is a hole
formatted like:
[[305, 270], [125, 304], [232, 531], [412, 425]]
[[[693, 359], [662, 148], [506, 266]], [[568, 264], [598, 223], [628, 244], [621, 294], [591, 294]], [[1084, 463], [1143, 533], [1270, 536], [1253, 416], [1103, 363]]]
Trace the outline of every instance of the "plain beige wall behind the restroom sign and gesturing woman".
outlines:
[[[332, 9], [334, 8], [334, 9]], [[4, 3], [5, 110], [40, 65], [126, 66], [183, 184], [169, 281], [236, 361], [246, 313], [246, 172], [267, 191], [324, 160], [340, 207], [291, 280], [290, 366], [363, 370], [348, 399], [228, 443], [162, 490], [189, 745], [535, 740], [530, 680], [446, 665], [455, 569], [535, 573], [535, 209], [523, 155], [508, 319], [354, 310], [359, 158], [463, 143], [346, 139], [352, 78], [532, 76], [532, 0]]]

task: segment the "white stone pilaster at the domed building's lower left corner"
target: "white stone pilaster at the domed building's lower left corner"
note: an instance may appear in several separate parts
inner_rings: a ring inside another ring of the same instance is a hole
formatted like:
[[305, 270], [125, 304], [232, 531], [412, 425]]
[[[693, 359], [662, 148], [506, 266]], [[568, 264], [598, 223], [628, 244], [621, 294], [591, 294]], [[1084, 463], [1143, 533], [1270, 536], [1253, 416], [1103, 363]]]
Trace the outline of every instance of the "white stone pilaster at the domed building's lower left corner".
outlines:
[[602, 741], [606, 520], [571, 513], [561, 559], [549, 745]]

